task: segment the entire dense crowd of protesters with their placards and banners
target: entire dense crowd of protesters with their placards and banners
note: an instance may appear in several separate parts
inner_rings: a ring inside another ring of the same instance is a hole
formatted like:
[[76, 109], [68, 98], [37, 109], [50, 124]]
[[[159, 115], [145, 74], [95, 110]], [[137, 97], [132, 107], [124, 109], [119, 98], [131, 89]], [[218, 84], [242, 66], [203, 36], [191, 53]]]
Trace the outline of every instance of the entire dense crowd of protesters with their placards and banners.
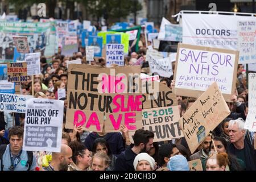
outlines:
[[256, 63], [255, 17], [241, 19], [252, 29], [233, 26], [254, 32], [244, 53], [188, 40], [187, 16], [108, 31], [42, 19], [30, 24], [55, 28], [31, 32], [35, 46], [0, 28], [14, 49], [0, 62], [1, 171], [255, 171], [256, 77], [246, 68]]

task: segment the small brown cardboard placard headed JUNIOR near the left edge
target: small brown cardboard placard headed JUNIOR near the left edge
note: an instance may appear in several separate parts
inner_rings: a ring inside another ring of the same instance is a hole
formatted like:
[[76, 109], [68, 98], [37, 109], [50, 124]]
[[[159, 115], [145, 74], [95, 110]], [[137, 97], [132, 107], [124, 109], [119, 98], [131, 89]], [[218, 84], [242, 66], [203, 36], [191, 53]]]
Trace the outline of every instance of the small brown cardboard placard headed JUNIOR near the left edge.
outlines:
[[7, 74], [10, 82], [27, 81], [27, 63], [7, 63]]

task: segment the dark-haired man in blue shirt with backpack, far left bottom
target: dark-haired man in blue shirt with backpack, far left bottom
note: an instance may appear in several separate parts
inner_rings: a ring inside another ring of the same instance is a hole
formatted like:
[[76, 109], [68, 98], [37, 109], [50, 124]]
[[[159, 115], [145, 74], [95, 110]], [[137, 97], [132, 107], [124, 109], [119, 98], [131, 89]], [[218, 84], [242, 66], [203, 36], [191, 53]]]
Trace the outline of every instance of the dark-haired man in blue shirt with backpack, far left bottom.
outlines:
[[23, 133], [20, 126], [9, 130], [10, 144], [0, 146], [1, 171], [33, 171], [36, 168], [36, 157], [32, 151], [22, 150]]

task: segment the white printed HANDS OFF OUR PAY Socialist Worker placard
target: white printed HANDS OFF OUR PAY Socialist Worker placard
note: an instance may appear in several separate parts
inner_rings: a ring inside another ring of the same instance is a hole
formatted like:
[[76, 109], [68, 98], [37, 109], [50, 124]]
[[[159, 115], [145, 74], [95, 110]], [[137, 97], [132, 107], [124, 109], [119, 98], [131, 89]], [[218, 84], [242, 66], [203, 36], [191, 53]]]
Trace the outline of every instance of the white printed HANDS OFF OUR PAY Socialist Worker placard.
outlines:
[[27, 100], [23, 150], [60, 152], [64, 101]]

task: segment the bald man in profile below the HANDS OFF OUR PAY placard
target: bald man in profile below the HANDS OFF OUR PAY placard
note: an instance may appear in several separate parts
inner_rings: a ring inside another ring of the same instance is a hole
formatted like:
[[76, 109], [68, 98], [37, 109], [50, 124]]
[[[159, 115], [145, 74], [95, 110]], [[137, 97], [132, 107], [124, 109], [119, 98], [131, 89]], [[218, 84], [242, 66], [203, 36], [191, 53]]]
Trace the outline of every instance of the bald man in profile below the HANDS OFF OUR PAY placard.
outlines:
[[45, 171], [67, 171], [69, 164], [72, 162], [72, 150], [67, 144], [61, 144], [61, 151], [52, 152], [52, 161]]

